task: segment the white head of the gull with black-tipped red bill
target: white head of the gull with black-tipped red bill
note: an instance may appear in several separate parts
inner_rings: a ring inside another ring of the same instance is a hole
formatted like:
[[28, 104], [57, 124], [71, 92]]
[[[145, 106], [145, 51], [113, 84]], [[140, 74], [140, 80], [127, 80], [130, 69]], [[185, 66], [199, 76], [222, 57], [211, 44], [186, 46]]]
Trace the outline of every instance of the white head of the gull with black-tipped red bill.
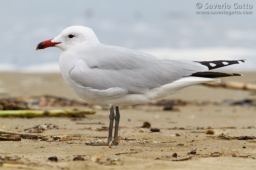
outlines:
[[71, 26], [63, 30], [57, 37], [39, 43], [36, 50], [58, 47], [65, 51], [81, 44], [92, 46], [99, 44], [99, 40], [92, 29], [83, 26]]

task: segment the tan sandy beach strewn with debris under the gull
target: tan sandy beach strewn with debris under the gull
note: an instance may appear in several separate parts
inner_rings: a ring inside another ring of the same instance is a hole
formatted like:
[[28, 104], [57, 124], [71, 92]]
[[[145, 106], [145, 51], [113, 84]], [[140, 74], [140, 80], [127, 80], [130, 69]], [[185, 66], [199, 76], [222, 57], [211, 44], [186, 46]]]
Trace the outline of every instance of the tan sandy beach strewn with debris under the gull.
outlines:
[[[243, 77], [223, 78], [222, 81], [256, 83], [256, 73], [242, 74]], [[5, 90], [0, 94], [0, 98], [48, 94], [83, 101], [68, 87], [61, 74], [57, 73], [2, 72], [0, 88]], [[120, 107], [118, 136], [122, 140], [118, 146], [113, 146], [111, 149], [108, 146], [86, 145], [91, 142], [107, 141], [108, 128], [102, 126], [109, 126], [108, 108], [95, 105], [41, 106], [39, 109], [44, 110], [94, 108], [96, 114], [86, 115], [84, 118], [1, 118], [0, 129], [6, 131], [24, 132], [24, 129], [44, 123], [52, 123], [59, 129], [40, 133], [39, 135], [48, 138], [46, 141], [33, 139], [0, 141], [0, 170], [255, 169], [256, 139], [221, 139], [216, 136], [221, 134], [230, 137], [256, 136], [256, 107], [213, 104], [224, 100], [255, 99], [255, 96], [255, 92], [252, 91], [195, 85], [166, 98], [191, 102], [184, 106], [173, 106], [175, 109], [170, 111], [163, 110], [164, 106], [154, 104]], [[202, 102], [210, 104], [200, 104]], [[160, 132], [150, 132], [148, 128], [141, 128], [145, 121], [151, 123], [151, 128], [160, 129]], [[77, 124], [82, 122], [95, 124]], [[101, 124], [96, 124], [97, 122]], [[205, 134], [209, 129], [214, 131], [214, 134]], [[67, 135], [60, 139], [71, 140], [54, 141], [51, 137], [58, 135]], [[178, 157], [174, 157], [174, 153]], [[7, 156], [10, 160], [6, 158]], [[48, 160], [52, 156], [56, 156], [58, 161]], [[77, 156], [81, 156], [84, 160], [73, 160]], [[183, 158], [187, 160], [180, 160]]]

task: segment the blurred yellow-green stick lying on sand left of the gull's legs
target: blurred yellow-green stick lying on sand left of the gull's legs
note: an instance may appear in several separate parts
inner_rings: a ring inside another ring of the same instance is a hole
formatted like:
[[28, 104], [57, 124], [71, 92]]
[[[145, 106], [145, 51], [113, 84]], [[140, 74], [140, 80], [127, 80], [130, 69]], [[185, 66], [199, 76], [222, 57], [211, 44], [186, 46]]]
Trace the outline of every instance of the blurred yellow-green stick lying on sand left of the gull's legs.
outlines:
[[93, 109], [86, 110], [62, 110], [62, 109], [53, 109], [47, 111], [40, 110], [9, 110], [9, 111], [0, 111], [0, 116], [8, 117], [40, 117], [40, 116], [80, 116], [85, 114], [94, 114], [96, 113]]

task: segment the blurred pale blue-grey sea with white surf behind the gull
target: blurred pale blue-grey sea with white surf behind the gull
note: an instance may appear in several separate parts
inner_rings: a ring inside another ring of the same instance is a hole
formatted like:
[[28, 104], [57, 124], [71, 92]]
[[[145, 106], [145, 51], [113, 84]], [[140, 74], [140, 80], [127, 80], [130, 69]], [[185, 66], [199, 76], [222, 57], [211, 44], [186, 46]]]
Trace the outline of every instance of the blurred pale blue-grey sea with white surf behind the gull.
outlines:
[[[198, 9], [200, 2], [203, 7]], [[59, 72], [61, 50], [35, 51], [63, 29], [82, 25], [103, 44], [162, 58], [192, 61], [238, 60], [226, 71], [256, 71], [256, 2], [248, 1], [0, 1], [0, 71]], [[205, 9], [204, 4], [251, 4], [252, 8]], [[252, 12], [253, 14], [196, 14]]]

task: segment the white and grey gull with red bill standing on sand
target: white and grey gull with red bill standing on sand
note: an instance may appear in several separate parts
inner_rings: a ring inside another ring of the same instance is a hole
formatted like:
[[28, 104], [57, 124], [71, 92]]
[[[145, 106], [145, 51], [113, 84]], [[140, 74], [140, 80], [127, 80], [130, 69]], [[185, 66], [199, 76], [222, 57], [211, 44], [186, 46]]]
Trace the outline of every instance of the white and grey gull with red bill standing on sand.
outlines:
[[[118, 136], [118, 106], [144, 104], [180, 92], [183, 88], [237, 73], [209, 70], [247, 62], [168, 60], [132, 49], [101, 44], [92, 29], [71, 26], [57, 37], [38, 44], [36, 50], [58, 47], [62, 77], [82, 99], [110, 107], [108, 143]], [[114, 113], [114, 107], [116, 114]], [[115, 144], [117, 145], [117, 144]]]

